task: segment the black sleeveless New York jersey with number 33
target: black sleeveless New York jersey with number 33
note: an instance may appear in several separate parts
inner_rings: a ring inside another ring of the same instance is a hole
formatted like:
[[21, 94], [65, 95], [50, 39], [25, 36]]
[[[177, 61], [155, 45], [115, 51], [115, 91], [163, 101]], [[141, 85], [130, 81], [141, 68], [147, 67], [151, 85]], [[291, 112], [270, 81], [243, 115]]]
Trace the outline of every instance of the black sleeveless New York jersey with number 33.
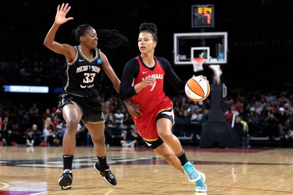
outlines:
[[103, 78], [100, 49], [93, 49], [93, 59], [88, 59], [82, 53], [80, 45], [75, 48], [75, 59], [67, 63], [67, 70], [63, 76], [64, 90], [79, 96], [99, 94]]

